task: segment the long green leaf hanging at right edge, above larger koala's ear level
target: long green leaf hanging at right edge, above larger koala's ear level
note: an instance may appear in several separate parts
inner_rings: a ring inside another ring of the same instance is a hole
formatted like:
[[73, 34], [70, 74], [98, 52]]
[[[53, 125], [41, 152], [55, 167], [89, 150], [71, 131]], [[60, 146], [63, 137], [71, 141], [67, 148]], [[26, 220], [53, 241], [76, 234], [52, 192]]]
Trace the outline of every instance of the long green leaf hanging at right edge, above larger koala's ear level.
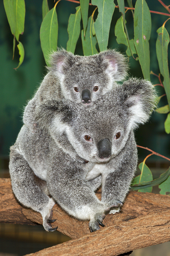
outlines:
[[164, 26], [160, 27], [157, 31], [158, 38], [156, 40], [156, 55], [159, 63], [159, 69], [164, 77], [163, 85], [166, 92], [168, 104], [170, 105], [170, 81], [168, 69], [168, 44], [169, 34]]

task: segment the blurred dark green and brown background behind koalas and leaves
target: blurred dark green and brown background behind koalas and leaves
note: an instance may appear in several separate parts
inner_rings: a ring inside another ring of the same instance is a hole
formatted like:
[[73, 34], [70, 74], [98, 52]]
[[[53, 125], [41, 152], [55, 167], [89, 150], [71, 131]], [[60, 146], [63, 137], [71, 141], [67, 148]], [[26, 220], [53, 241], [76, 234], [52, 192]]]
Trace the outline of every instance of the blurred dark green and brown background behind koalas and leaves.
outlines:
[[[132, 1], [133, 6], [136, 1]], [[165, 12], [165, 8], [157, 0], [146, 0], [149, 9], [159, 12]], [[170, 4], [168, 0], [163, 1], [166, 5]], [[49, 9], [54, 7], [54, 1], [49, 0]], [[116, 1], [115, 1], [116, 4]], [[74, 4], [68, 1], [60, 1], [57, 5], [57, 16], [59, 23], [58, 47], [66, 48], [68, 41], [67, 25], [71, 13], [75, 13]], [[128, 6], [125, 1], [125, 6]], [[3, 1], [0, 1], [0, 177], [9, 177], [9, 148], [15, 143], [17, 135], [22, 127], [22, 113], [24, 106], [32, 98], [36, 89], [39, 87], [44, 75], [46, 74], [45, 61], [40, 46], [40, 26], [42, 22], [42, 0], [25, 0], [25, 29], [24, 34], [20, 35], [25, 50], [25, 57], [22, 65], [18, 66], [19, 55], [15, 51], [14, 60], [12, 60], [13, 36], [5, 14]], [[89, 7], [89, 12], [92, 9]], [[132, 15], [130, 11], [126, 13]], [[150, 39], [150, 69], [155, 74], [159, 74], [158, 61], [155, 55], [155, 43], [157, 38], [156, 30], [162, 26], [167, 16], [151, 14], [152, 16], [152, 33]], [[126, 47], [118, 45], [114, 35], [114, 26], [117, 18], [120, 17], [119, 9], [116, 8], [110, 29], [108, 48], [116, 48], [125, 53]], [[131, 29], [133, 37], [133, 20], [132, 24], [127, 24], [128, 31]], [[170, 34], [169, 22], [166, 23], [166, 29]], [[82, 26], [83, 28], [83, 26]], [[169, 51], [169, 48], [168, 48]], [[81, 38], [79, 38], [75, 54], [83, 55]], [[142, 71], [138, 61], [132, 57], [129, 58], [129, 75], [142, 78]], [[159, 83], [156, 76], [151, 75], [153, 84]], [[157, 86], [159, 95], [164, 94], [164, 89]], [[166, 97], [163, 97], [159, 106], [167, 104]], [[136, 142], [138, 145], [148, 147], [170, 158], [170, 135], [165, 133], [164, 121], [166, 114], [153, 113], [150, 121], [139, 127], [136, 133]], [[148, 151], [138, 148], [139, 163], [148, 155]], [[153, 171], [153, 177], [157, 178], [168, 168], [169, 162], [163, 158], [152, 156], [147, 160], [147, 165]], [[154, 190], [159, 193], [159, 189]], [[32, 253], [43, 248], [67, 241], [69, 238], [61, 233], [46, 232], [42, 226], [23, 226], [0, 223], [0, 256], [20, 256]], [[161, 247], [163, 246], [163, 247]], [[158, 245], [154, 255], [170, 255], [169, 242]], [[136, 250], [132, 255], [151, 255], [149, 248]], [[165, 250], [165, 251], [164, 251]], [[148, 254], [147, 254], [148, 253]], [[159, 254], [157, 254], [159, 253]]]

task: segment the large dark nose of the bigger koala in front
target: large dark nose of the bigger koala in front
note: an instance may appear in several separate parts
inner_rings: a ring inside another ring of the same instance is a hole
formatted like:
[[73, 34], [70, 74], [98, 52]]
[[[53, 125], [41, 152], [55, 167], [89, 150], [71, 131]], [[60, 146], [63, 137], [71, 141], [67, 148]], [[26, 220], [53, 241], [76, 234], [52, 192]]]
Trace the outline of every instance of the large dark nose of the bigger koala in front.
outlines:
[[97, 148], [100, 158], [107, 158], [111, 156], [112, 143], [108, 139], [102, 139], [97, 143]]

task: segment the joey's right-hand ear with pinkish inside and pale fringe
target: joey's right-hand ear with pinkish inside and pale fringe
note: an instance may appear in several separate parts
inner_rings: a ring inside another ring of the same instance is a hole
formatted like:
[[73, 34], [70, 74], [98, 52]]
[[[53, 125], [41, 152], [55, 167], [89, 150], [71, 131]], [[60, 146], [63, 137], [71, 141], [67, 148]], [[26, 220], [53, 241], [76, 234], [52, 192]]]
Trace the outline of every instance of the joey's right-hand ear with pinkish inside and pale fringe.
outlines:
[[107, 64], [106, 72], [116, 81], [122, 81], [127, 76], [127, 58], [116, 50], [99, 52], [99, 58]]

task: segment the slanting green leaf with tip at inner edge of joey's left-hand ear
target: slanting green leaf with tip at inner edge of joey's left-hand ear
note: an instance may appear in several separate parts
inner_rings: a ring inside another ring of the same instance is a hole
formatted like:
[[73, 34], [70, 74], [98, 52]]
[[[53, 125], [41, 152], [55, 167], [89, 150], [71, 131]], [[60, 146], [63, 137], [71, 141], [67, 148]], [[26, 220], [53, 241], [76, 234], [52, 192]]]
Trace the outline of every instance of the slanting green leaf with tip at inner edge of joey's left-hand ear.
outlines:
[[80, 21], [81, 21], [81, 9], [80, 6], [76, 7], [76, 13], [70, 14], [68, 23], [69, 40], [67, 42], [67, 51], [74, 53], [77, 40], [80, 35]]

